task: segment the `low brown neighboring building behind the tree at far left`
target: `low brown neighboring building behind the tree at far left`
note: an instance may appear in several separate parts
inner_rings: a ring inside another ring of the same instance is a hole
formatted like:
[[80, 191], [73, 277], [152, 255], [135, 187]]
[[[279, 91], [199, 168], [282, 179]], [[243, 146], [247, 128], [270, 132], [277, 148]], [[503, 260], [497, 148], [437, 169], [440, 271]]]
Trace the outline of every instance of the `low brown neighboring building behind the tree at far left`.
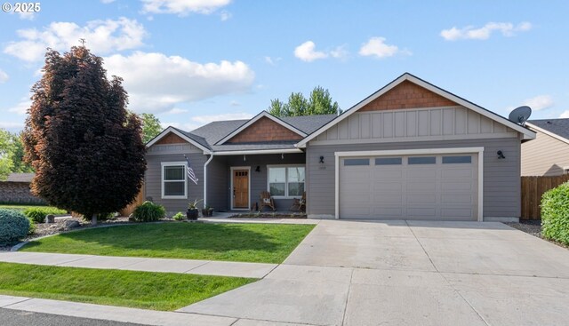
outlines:
[[29, 191], [32, 179], [34, 173], [10, 173], [8, 179], [0, 181], [0, 203], [45, 203]]

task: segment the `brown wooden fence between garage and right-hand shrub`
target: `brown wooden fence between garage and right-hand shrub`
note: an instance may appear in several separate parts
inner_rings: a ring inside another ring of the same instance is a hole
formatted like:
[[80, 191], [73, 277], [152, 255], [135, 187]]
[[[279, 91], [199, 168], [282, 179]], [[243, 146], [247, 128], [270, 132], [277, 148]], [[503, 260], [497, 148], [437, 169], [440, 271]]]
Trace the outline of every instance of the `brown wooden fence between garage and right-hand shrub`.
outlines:
[[569, 181], [569, 175], [556, 177], [522, 177], [521, 219], [541, 219], [541, 195]]

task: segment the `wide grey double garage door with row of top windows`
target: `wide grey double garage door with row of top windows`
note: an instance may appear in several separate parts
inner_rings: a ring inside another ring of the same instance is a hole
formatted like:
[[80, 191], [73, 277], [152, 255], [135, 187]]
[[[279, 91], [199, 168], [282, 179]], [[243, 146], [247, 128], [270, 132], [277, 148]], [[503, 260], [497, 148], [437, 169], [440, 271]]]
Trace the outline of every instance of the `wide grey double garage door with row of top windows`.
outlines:
[[477, 219], [477, 154], [341, 157], [341, 219]]

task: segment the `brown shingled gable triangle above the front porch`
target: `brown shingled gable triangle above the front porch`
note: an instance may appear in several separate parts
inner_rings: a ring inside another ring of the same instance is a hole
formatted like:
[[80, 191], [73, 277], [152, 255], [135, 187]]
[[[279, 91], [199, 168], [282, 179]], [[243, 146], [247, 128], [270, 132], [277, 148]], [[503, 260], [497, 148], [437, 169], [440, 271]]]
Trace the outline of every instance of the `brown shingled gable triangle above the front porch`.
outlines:
[[282, 125], [270, 120], [268, 117], [263, 116], [255, 123], [252, 123], [252, 125], [236, 134], [232, 139], [229, 139], [228, 143], [235, 144], [300, 139], [302, 139], [301, 135], [286, 129]]

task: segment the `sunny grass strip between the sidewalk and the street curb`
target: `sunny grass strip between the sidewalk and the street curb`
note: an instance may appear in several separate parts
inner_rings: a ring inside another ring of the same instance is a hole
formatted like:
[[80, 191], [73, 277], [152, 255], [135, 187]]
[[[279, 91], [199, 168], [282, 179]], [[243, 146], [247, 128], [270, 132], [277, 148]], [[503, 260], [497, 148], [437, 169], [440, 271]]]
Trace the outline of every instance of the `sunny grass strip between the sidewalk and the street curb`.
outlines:
[[172, 311], [255, 279], [0, 263], [0, 293]]

